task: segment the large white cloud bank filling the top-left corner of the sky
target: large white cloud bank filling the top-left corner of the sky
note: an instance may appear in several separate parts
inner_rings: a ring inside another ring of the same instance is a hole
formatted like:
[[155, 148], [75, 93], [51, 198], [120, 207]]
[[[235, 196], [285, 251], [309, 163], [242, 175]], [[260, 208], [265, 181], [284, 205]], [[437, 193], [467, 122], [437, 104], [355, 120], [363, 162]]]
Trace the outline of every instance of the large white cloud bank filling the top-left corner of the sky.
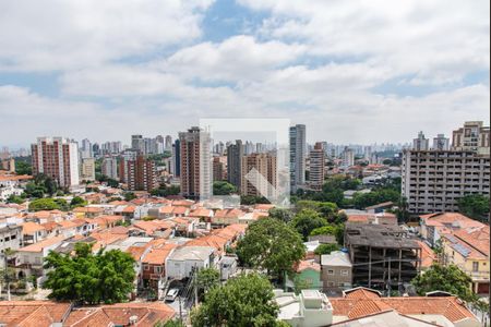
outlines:
[[2, 1], [0, 70], [68, 70], [201, 36], [213, 0]]

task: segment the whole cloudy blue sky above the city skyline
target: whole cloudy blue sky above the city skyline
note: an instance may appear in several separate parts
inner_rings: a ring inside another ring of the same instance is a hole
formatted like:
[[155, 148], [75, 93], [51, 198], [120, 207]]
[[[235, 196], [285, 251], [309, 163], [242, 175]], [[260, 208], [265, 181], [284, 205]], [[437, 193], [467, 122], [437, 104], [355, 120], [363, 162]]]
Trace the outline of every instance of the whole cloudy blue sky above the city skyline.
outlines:
[[489, 124], [490, 1], [0, 0], [0, 146], [286, 118], [309, 142]]

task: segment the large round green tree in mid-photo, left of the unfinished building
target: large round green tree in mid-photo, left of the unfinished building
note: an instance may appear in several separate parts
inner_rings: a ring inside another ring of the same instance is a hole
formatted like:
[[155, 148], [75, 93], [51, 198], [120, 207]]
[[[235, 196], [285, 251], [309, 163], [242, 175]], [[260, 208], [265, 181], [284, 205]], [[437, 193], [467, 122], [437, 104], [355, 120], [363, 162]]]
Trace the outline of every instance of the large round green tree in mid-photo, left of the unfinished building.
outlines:
[[240, 261], [251, 267], [265, 269], [277, 278], [291, 271], [295, 263], [306, 254], [301, 235], [291, 227], [274, 218], [251, 223], [237, 244]]

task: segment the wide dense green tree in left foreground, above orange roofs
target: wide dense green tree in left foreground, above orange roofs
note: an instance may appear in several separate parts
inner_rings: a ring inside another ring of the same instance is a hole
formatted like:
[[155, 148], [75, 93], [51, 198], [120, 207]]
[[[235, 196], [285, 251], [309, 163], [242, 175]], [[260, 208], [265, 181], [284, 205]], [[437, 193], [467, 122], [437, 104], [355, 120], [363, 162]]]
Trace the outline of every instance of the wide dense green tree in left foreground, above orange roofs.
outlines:
[[50, 252], [45, 269], [50, 269], [44, 288], [49, 298], [97, 304], [127, 300], [133, 290], [134, 259], [119, 250], [92, 253], [92, 244], [77, 243], [75, 255]]

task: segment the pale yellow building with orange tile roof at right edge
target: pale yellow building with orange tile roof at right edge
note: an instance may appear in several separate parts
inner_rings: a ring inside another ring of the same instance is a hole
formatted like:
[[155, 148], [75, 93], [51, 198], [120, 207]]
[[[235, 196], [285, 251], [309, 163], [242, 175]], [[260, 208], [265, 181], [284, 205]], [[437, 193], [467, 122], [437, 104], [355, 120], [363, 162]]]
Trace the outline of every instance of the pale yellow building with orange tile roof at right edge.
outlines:
[[489, 226], [466, 228], [444, 234], [444, 264], [454, 264], [472, 278], [475, 293], [489, 293]]

